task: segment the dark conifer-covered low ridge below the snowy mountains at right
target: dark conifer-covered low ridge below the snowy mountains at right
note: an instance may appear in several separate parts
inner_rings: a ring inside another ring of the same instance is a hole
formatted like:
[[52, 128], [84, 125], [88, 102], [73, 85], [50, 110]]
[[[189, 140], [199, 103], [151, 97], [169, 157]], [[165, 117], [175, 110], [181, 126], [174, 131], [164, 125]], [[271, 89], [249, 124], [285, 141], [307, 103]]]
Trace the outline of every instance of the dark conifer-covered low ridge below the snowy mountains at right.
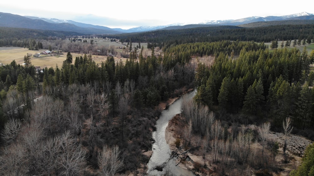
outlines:
[[121, 41], [147, 43], [148, 46], [169, 48], [171, 45], [215, 42], [222, 40], [271, 42], [291, 39], [313, 39], [314, 24], [283, 24], [258, 27], [213, 26], [175, 30], [156, 30], [143, 33], [106, 35]]

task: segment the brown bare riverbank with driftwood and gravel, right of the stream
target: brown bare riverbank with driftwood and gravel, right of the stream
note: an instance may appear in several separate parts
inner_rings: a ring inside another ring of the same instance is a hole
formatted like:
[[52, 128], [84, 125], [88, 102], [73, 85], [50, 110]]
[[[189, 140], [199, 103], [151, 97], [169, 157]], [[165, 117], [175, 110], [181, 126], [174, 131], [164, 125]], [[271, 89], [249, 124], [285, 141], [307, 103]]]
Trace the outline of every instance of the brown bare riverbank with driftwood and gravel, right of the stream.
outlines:
[[[254, 125], [246, 126], [246, 128], [252, 131], [257, 130], [257, 127]], [[241, 164], [235, 164], [233, 169], [228, 170], [228, 167], [224, 168], [221, 163], [213, 162], [214, 155], [210, 151], [210, 147], [204, 152], [203, 140], [197, 135], [192, 135], [191, 141], [192, 146], [197, 146], [198, 148], [192, 148], [191, 150], [189, 147], [187, 147], [190, 145], [187, 144], [188, 137], [186, 132], [186, 120], [180, 114], [176, 115], [174, 118], [171, 119], [171, 121], [169, 121], [168, 126], [165, 130], [166, 142], [170, 146], [171, 153], [176, 155], [176, 163], [181, 168], [187, 168], [199, 175], [218, 175], [221, 172], [224, 172], [228, 175], [256, 175], [257, 173], [266, 172], [265, 169], [243, 167], [243, 165]], [[180, 141], [179, 148], [177, 148], [178, 141]], [[268, 141], [268, 143], [278, 142], [279, 149], [276, 158], [272, 159], [271, 148], [269, 146], [265, 146], [264, 153], [265, 155], [268, 155], [268, 164], [273, 165], [273, 167], [277, 167], [276, 172], [268, 169], [267, 172], [282, 176], [288, 176], [291, 170], [297, 168], [297, 166], [300, 164], [301, 156], [303, 155], [306, 146], [313, 142], [302, 136], [290, 135], [287, 141], [287, 156], [289, 158], [288, 163], [285, 163], [285, 158], [283, 154], [284, 134], [270, 132], [268, 134]], [[208, 143], [207, 145], [210, 146], [211, 144]], [[256, 155], [259, 156], [262, 150], [262, 145], [258, 142], [254, 143], [252, 141], [251, 146], [252, 149], [256, 149]], [[189, 151], [186, 152], [187, 150]], [[229, 160], [232, 161], [232, 159]]]

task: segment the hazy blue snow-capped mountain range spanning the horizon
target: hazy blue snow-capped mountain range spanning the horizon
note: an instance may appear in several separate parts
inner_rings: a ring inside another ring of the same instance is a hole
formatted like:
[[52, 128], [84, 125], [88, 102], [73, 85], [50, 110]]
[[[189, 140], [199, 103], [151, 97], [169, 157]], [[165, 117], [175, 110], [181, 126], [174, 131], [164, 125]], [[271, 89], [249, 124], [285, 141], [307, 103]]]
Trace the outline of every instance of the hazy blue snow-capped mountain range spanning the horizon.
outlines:
[[158, 29], [184, 29], [196, 28], [206, 26], [218, 25], [244, 25], [254, 22], [269, 22], [269, 21], [282, 21], [282, 20], [314, 20], [312, 13], [296, 13], [285, 16], [267, 16], [267, 17], [247, 17], [236, 20], [216, 20], [204, 21], [198, 24], [170, 24], [165, 26], [140, 26], [137, 28], [121, 29], [121, 28], [108, 28], [105, 26], [98, 26], [92, 24], [79, 23], [72, 20], [61, 20], [56, 18], [40, 18], [31, 16], [20, 16], [11, 13], [0, 12], [0, 27], [13, 27], [13, 28], [30, 28], [30, 29], [44, 29], [44, 30], [57, 30], [57, 31], [70, 31], [79, 34], [120, 34], [131, 32], [144, 32]]

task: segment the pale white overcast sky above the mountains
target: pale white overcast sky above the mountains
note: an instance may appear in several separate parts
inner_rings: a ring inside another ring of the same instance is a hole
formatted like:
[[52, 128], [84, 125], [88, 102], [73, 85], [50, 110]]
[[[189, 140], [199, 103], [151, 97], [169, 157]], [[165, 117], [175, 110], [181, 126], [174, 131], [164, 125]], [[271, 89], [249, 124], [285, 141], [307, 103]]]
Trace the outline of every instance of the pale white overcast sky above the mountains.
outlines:
[[[312, 5], [310, 5], [312, 4]], [[1, 0], [0, 12], [129, 29], [204, 20], [314, 13], [312, 0]]]

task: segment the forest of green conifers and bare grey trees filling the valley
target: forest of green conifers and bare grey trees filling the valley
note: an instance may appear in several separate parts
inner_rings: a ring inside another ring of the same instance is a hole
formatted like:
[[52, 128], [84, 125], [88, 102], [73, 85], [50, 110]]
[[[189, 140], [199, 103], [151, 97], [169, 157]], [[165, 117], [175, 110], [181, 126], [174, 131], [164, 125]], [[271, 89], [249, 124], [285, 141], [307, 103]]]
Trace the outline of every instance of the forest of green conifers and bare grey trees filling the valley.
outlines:
[[[282, 132], [284, 122], [287, 133], [314, 140], [314, 50], [306, 50], [314, 42], [313, 29], [215, 26], [84, 36], [148, 43], [151, 53], [130, 48], [126, 61], [107, 56], [96, 64], [92, 54], [100, 48], [92, 42], [64, 43], [79, 34], [0, 28], [0, 46], [67, 53], [62, 65], [43, 72], [35, 71], [28, 54], [25, 65], [13, 60], [0, 67], [0, 175], [146, 175], [149, 157], [142, 153], [152, 149], [160, 102], [191, 88], [197, 93], [182, 107], [190, 132], [184, 134], [185, 147], [212, 153], [214, 175], [232, 175], [227, 169], [235, 166], [240, 171], [234, 174], [250, 175], [247, 168], [275, 174], [283, 168], [269, 167], [278, 152], [265, 137], [269, 130]], [[281, 40], [304, 40], [304, 49], [264, 43]], [[73, 58], [71, 52], [82, 55]], [[113, 52], [103, 47], [104, 55]], [[213, 64], [197, 61], [207, 56]], [[250, 131], [248, 124], [258, 129]], [[203, 144], [191, 142], [192, 134]], [[259, 154], [250, 147], [253, 139], [263, 146]], [[313, 156], [311, 148], [291, 175], [313, 171], [306, 159]]]

